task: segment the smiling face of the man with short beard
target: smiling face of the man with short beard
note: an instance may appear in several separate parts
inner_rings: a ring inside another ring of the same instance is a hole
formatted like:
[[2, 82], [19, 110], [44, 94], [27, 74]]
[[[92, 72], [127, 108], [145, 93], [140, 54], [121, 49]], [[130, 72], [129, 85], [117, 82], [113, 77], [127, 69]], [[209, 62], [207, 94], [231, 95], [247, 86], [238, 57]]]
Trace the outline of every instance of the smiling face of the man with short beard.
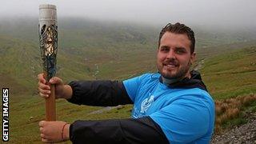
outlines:
[[190, 54], [190, 39], [186, 34], [166, 32], [158, 48], [158, 70], [164, 78], [190, 77], [190, 64], [195, 53]]

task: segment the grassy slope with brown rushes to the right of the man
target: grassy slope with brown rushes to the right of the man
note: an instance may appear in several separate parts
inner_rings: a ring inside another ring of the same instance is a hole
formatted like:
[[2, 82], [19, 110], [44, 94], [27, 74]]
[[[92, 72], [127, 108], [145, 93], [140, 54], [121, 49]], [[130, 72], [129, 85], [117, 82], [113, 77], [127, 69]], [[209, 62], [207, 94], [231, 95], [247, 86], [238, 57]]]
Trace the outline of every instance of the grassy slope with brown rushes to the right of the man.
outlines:
[[215, 132], [247, 122], [246, 113], [256, 112], [256, 45], [201, 63], [202, 78], [215, 100]]

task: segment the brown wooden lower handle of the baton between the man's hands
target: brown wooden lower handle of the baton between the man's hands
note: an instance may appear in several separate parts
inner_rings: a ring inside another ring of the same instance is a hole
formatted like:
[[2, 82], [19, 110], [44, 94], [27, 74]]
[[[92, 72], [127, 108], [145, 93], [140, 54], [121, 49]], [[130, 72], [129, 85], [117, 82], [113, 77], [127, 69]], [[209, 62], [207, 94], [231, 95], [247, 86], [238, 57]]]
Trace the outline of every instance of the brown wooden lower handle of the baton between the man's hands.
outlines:
[[46, 98], [46, 121], [56, 121], [55, 85], [48, 85], [50, 86], [50, 95]]

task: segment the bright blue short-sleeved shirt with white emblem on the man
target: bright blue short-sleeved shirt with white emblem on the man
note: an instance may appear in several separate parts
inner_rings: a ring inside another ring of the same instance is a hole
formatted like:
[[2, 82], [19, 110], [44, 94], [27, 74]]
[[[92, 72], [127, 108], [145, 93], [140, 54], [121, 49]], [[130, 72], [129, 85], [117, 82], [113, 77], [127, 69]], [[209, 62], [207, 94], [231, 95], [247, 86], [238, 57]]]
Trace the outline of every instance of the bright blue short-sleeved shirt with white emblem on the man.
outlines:
[[150, 116], [170, 143], [209, 143], [214, 130], [214, 101], [199, 88], [172, 89], [160, 74], [143, 74], [123, 82], [134, 102], [132, 118]]

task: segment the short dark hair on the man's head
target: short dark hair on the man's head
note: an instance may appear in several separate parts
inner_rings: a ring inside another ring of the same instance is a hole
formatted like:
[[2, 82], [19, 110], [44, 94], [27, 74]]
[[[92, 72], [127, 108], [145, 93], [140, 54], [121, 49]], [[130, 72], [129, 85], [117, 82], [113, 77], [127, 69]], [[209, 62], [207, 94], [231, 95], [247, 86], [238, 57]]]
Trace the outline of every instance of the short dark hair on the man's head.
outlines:
[[169, 31], [174, 34], [186, 34], [187, 37], [190, 39], [191, 45], [190, 45], [190, 53], [194, 53], [194, 45], [195, 45], [195, 38], [194, 38], [194, 31], [190, 29], [190, 27], [181, 24], [179, 22], [175, 24], [168, 23], [164, 28], [162, 28], [160, 34], [159, 34], [159, 40], [158, 40], [158, 48], [160, 46], [160, 41], [162, 38], [162, 35], [166, 33], [166, 31]]

